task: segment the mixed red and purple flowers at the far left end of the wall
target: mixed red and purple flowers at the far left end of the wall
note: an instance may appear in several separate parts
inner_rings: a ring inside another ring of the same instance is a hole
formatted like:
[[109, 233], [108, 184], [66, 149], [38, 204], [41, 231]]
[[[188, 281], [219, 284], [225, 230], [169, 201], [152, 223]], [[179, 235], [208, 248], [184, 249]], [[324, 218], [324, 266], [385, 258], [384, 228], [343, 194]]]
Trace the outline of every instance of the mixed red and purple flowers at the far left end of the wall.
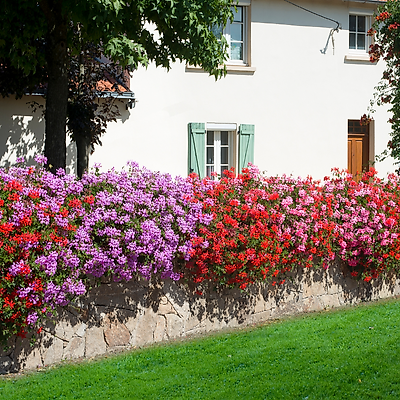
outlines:
[[0, 170], [0, 339], [25, 336], [58, 304], [85, 292], [69, 247], [81, 215], [70, 203], [82, 189], [62, 171]]

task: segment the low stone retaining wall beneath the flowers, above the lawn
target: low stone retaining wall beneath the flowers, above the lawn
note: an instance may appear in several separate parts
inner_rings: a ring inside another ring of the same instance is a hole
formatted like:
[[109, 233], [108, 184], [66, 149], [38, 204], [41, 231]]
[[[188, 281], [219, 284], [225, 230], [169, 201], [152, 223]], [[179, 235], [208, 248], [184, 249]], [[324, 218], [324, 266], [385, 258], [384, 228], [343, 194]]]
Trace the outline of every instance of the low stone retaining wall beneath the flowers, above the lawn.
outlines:
[[34, 346], [29, 337], [10, 340], [10, 349], [0, 352], [0, 373], [399, 294], [399, 279], [357, 282], [338, 263], [326, 271], [298, 269], [281, 286], [254, 285], [248, 293], [199, 296], [172, 281], [104, 283], [60, 310]]

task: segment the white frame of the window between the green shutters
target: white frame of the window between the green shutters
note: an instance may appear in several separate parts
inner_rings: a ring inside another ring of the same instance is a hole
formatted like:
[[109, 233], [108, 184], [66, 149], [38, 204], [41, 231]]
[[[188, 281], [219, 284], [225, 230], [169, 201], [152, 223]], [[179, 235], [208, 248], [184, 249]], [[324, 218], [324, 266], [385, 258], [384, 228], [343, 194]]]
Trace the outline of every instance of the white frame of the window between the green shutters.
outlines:
[[[214, 132], [214, 140], [212, 144], [208, 144], [208, 132]], [[228, 145], [221, 144], [221, 132], [228, 132]], [[210, 163], [208, 158], [208, 148], [214, 148], [214, 162]], [[207, 123], [206, 124], [206, 151], [205, 151], [205, 176], [211, 179], [217, 179], [211, 176], [211, 170], [209, 168], [213, 167], [213, 172], [216, 172], [219, 176], [221, 174], [221, 148], [228, 147], [228, 165], [225, 169], [230, 169], [232, 167], [237, 170], [237, 150], [238, 150], [238, 135], [237, 135], [237, 125], [236, 124], [224, 124], [224, 123]], [[210, 173], [209, 173], [210, 172]]]

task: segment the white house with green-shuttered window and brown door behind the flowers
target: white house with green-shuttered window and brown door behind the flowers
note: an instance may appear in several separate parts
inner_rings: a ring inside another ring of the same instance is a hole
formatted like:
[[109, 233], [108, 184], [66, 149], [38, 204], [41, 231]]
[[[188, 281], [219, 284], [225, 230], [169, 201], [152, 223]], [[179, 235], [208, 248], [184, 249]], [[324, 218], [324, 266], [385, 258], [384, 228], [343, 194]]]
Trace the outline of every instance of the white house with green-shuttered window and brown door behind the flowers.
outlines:
[[[369, 62], [366, 36], [379, 3], [239, 1], [224, 30], [231, 46], [227, 76], [215, 81], [184, 63], [169, 72], [138, 69], [131, 81], [136, 107], [109, 125], [91, 165], [120, 169], [135, 160], [172, 175], [202, 176], [248, 161], [269, 175], [322, 178], [332, 167], [360, 170], [389, 140], [385, 108], [369, 127], [357, 122], [384, 69]], [[4, 140], [13, 141], [14, 127], [36, 129], [38, 117], [29, 117], [24, 101], [18, 108], [0, 100], [2, 119], [8, 107], [13, 121], [0, 120], [3, 165], [17, 156]], [[392, 160], [375, 167], [382, 176], [394, 170]]]

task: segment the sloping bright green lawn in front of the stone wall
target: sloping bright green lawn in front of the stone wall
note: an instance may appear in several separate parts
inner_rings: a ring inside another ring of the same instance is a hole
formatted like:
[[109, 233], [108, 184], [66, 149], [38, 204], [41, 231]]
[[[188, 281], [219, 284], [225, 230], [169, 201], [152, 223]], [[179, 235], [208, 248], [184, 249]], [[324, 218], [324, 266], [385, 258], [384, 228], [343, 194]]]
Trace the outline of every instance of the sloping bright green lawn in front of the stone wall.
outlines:
[[397, 399], [400, 301], [0, 379], [0, 399]]

